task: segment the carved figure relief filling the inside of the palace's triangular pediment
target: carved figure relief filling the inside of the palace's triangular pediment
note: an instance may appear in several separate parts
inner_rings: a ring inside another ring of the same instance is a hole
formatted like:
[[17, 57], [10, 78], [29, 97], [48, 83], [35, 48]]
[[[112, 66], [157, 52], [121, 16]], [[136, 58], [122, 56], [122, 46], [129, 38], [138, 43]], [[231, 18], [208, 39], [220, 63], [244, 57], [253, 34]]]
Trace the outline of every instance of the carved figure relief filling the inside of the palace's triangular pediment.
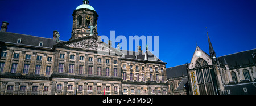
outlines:
[[72, 48], [81, 48], [85, 50], [96, 50], [96, 51], [104, 51], [104, 52], [112, 52], [104, 42], [98, 42], [93, 37], [89, 39], [83, 39], [82, 41], [72, 42], [65, 44], [64, 46], [72, 47]]

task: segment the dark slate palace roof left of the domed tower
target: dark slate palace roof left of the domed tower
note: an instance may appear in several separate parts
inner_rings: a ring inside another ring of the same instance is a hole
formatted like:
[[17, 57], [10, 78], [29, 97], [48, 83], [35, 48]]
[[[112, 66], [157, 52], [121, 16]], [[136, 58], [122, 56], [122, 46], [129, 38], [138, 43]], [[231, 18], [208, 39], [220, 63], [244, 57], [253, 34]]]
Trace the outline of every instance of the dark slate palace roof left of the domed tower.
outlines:
[[[18, 39], [22, 39], [22, 42], [17, 43]], [[11, 32], [0, 32], [0, 41], [16, 43], [17, 45], [30, 45], [30, 46], [39, 46], [40, 42], [43, 42], [43, 47], [53, 48], [56, 44], [56, 39], [29, 36], [26, 34], [18, 34]], [[65, 42], [65, 41], [60, 41]]]

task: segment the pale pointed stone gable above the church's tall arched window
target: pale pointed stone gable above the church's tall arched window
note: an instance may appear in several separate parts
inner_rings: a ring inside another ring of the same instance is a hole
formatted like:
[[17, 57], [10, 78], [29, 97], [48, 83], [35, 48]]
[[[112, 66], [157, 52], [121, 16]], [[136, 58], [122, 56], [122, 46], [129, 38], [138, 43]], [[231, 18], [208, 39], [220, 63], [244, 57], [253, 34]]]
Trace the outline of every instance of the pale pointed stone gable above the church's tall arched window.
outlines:
[[200, 67], [201, 65], [212, 65], [212, 59], [210, 56], [205, 53], [198, 46], [193, 54], [193, 58], [191, 60], [191, 64], [189, 64], [189, 69], [193, 69], [196, 67]]

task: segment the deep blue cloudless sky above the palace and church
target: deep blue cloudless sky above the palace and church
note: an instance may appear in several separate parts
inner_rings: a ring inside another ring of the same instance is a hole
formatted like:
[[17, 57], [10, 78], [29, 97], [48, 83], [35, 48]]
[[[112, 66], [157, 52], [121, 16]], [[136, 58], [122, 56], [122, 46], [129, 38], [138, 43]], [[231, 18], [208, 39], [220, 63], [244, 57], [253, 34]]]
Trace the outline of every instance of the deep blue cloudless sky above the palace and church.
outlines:
[[[72, 13], [82, 0], [0, 0], [7, 32], [68, 41]], [[90, 0], [98, 34], [159, 36], [159, 58], [174, 67], [190, 63], [197, 45], [209, 54], [205, 27], [217, 56], [256, 48], [255, 0]], [[144, 45], [142, 45], [144, 46]], [[137, 48], [134, 48], [137, 51]]]

